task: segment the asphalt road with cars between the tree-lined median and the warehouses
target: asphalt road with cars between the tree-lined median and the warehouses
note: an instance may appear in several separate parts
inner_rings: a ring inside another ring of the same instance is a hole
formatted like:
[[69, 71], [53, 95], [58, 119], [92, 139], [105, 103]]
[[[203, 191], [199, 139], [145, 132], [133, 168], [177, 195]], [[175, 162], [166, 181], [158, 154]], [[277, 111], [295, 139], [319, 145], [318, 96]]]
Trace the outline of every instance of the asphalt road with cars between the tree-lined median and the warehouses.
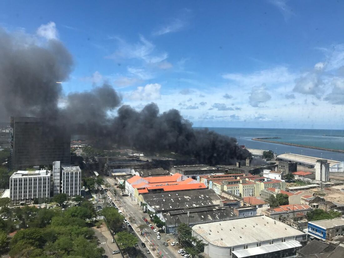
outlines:
[[[104, 177], [104, 179], [109, 183], [109, 185], [111, 186], [112, 189], [115, 189], [114, 187], [112, 187], [114, 185], [114, 179], [109, 178], [109, 177]], [[116, 189], [115, 189], [115, 191], [116, 191]], [[120, 206], [118, 208], [122, 212], [125, 212], [128, 214], [128, 216], [125, 216], [128, 221], [129, 221], [129, 217], [135, 219], [135, 222], [130, 222], [130, 223], [132, 224], [132, 227], [135, 229], [134, 230], [135, 234], [138, 236], [138, 232], [136, 232], [136, 230], [137, 230], [136, 226], [141, 225], [141, 224], [145, 224], [142, 217], [148, 217], [148, 215], [147, 215], [147, 213], [143, 213], [140, 210], [138, 210], [140, 208], [138, 205], [132, 205], [130, 203], [131, 198], [129, 196], [122, 196], [120, 191], [118, 191], [117, 193], [118, 194], [117, 194], [116, 200], [119, 200], [119, 202], [120, 202]], [[125, 214], [123, 214], [123, 215], [125, 215]], [[161, 233], [161, 239], [157, 239], [156, 233], [154, 233], [153, 230], [150, 229], [148, 226], [146, 228], [144, 228], [143, 231], [147, 232], [147, 239], [149, 239], [150, 242], [153, 243], [154, 246], [156, 246], [159, 251], [161, 251], [161, 254], [164, 255], [164, 257], [166, 257], [166, 258], [167, 257], [168, 258], [181, 258], [180, 255], [173, 253], [173, 251], [170, 249], [171, 247], [166, 247], [163, 245], [163, 242], [167, 242], [168, 240], [171, 240], [171, 241], [169, 241], [169, 243], [173, 242], [174, 236], [172, 236], [172, 235], [166, 236], [164, 233]], [[144, 238], [144, 236], [139, 236], [139, 237], [141, 239]], [[147, 241], [145, 241], [145, 243], [147, 245]], [[141, 245], [141, 243], [139, 243], [139, 247], [142, 247], [140, 245]], [[152, 252], [151, 247], [149, 249]], [[147, 257], [149, 257], [149, 256], [155, 257], [156, 255], [155, 256], [151, 256], [151, 254], [147, 255]]]

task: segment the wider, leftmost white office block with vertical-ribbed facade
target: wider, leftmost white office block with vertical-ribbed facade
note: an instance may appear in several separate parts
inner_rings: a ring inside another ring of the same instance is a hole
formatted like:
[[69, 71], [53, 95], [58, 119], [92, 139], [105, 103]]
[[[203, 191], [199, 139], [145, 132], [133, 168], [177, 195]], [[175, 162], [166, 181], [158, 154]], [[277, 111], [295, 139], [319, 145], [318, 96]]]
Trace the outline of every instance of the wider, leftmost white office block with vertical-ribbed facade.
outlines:
[[17, 171], [10, 177], [10, 198], [18, 203], [50, 197], [50, 171]]

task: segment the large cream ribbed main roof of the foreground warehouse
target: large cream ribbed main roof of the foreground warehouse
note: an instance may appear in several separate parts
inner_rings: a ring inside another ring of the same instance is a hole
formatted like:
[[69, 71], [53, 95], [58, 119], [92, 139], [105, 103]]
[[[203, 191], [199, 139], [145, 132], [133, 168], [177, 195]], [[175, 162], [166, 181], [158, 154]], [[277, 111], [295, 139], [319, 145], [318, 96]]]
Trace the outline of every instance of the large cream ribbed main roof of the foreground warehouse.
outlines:
[[271, 239], [304, 235], [303, 232], [266, 216], [197, 224], [192, 227], [192, 230], [206, 242], [221, 247], [245, 245]]

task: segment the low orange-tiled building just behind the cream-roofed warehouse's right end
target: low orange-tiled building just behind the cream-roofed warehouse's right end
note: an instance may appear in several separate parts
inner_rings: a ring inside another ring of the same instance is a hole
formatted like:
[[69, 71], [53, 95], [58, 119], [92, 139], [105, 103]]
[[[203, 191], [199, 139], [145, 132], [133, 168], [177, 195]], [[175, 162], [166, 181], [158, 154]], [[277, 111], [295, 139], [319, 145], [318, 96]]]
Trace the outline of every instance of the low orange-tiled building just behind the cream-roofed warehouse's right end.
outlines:
[[281, 205], [276, 208], [269, 208], [266, 211], [262, 211], [262, 214], [270, 218], [279, 219], [280, 217], [303, 216], [310, 211], [313, 211], [313, 208], [307, 204], [289, 204]]

